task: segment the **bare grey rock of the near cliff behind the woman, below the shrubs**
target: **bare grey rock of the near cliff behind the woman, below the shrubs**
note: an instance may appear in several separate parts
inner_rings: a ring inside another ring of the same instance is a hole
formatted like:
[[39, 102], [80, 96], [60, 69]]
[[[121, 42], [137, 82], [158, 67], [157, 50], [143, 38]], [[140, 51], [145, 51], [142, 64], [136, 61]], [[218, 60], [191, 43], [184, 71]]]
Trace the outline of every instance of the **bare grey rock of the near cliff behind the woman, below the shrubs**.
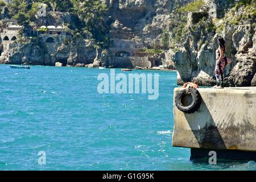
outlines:
[[181, 39], [181, 44], [176, 46], [176, 49], [179, 50], [170, 49], [171, 60], [174, 61], [180, 76], [178, 84], [198, 81], [201, 85], [214, 85], [217, 38], [222, 36], [226, 40], [226, 53], [233, 61], [232, 64], [225, 67], [225, 86], [254, 85], [253, 77], [256, 72], [255, 23], [250, 19], [243, 19], [239, 24], [229, 23], [233, 21], [232, 18], [242, 17], [243, 14], [245, 14], [245, 7], [242, 6], [238, 10], [228, 11], [226, 15], [228, 18], [224, 18], [225, 22], [222, 19], [206, 18], [204, 23], [208, 22], [208, 26], [215, 21], [217, 28], [223, 27], [223, 30], [216, 34], [213, 34], [213, 31], [207, 31], [205, 24], [195, 23], [198, 19], [193, 14], [191, 15], [185, 26], [187, 33]]

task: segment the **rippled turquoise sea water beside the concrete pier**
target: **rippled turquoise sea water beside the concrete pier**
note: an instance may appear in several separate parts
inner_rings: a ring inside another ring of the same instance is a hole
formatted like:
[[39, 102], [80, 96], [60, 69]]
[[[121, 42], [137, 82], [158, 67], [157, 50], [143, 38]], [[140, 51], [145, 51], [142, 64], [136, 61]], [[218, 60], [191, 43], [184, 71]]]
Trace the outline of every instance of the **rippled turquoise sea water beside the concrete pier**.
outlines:
[[189, 149], [171, 146], [176, 72], [133, 71], [160, 75], [158, 100], [99, 94], [100, 73], [110, 69], [0, 65], [0, 170], [256, 169], [255, 162], [192, 163]]

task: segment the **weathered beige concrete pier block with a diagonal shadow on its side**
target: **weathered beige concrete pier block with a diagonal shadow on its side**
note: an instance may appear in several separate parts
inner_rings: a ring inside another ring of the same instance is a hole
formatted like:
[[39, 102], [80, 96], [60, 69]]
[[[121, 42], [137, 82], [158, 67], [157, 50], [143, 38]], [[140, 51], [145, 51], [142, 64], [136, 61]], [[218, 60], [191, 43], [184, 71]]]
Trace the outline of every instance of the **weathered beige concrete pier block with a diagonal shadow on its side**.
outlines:
[[256, 152], [256, 87], [198, 90], [202, 104], [195, 113], [174, 103], [172, 146]]

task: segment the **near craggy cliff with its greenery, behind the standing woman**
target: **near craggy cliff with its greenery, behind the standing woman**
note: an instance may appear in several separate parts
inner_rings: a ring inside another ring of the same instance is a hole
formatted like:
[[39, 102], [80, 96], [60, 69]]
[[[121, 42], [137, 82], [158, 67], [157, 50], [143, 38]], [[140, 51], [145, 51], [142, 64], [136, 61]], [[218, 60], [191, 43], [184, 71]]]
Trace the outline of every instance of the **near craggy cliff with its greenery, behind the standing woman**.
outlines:
[[225, 86], [254, 85], [255, 0], [204, 2], [205, 5], [199, 0], [187, 3], [170, 15], [174, 20], [169, 31], [171, 59], [179, 72], [179, 82], [214, 84], [217, 38], [222, 36], [226, 53], [233, 60], [225, 69]]

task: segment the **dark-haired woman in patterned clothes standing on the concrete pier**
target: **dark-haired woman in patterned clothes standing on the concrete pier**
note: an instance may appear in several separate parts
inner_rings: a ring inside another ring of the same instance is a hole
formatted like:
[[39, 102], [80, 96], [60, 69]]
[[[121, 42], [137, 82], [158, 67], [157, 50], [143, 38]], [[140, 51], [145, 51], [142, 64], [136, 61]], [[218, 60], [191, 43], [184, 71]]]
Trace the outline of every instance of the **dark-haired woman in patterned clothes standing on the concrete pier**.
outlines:
[[216, 50], [216, 67], [214, 70], [217, 85], [213, 88], [224, 88], [225, 52], [225, 40], [223, 38], [218, 38], [218, 49]]

